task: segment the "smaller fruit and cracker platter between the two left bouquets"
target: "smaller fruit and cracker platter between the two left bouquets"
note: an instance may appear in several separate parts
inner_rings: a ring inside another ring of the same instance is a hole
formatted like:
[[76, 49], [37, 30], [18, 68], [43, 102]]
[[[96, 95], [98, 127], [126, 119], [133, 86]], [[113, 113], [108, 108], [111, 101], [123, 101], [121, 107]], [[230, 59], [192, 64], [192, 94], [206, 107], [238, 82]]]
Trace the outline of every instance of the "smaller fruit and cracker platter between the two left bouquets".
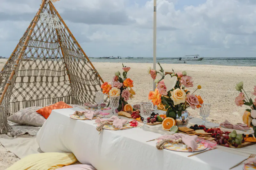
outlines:
[[[144, 118], [140, 116], [140, 110], [135, 111], [121, 111], [118, 112], [118, 116], [128, 117], [133, 120], [137, 120], [138, 122], [144, 121]], [[158, 125], [162, 124], [163, 120], [166, 118], [166, 115], [159, 115], [158, 113], [155, 114], [154, 112], [151, 113], [150, 117], [147, 118], [148, 125]]]

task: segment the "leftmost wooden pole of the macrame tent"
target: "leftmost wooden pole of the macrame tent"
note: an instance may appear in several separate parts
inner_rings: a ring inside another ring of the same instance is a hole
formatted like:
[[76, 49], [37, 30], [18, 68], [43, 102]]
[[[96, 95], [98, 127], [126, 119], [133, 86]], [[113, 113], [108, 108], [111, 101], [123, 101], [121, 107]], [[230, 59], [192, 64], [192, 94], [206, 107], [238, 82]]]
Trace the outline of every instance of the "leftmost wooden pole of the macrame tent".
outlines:
[[9, 85], [11, 84], [11, 81], [12, 81], [13, 75], [14, 75], [14, 73], [15, 73], [15, 71], [16, 71], [16, 68], [18, 67], [18, 65], [19, 65], [19, 63], [20, 63], [20, 59], [21, 59], [22, 55], [23, 55], [24, 52], [25, 52], [25, 48], [27, 48], [28, 41], [29, 41], [29, 39], [30, 39], [30, 37], [31, 37], [31, 34], [32, 34], [32, 32], [33, 32], [33, 30], [34, 30], [34, 28], [35, 28], [35, 26], [36, 26], [36, 23], [37, 23], [37, 21], [38, 21], [39, 15], [40, 15], [40, 13], [41, 13], [43, 7], [44, 7], [44, 3], [45, 3], [45, 0], [42, 0], [42, 4], [41, 4], [40, 8], [38, 9], [38, 11], [37, 11], [37, 13], [36, 13], [36, 16], [35, 16], [35, 19], [34, 19], [34, 21], [33, 21], [33, 24], [32, 24], [31, 28], [30, 28], [29, 31], [28, 31], [28, 35], [27, 35], [27, 38], [26, 38], [26, 40], [25, 40], [25, 42], [24, 42], [24, 45], [23, 45], [23, 47], [22, 47], [22, 49], [21, 49], [21, 51], [20, 51], [20, 54], [19, 54], [19, 56], [18, 56], [18, 58], [17, 58], [17, 60], [16, 60], [16, 63], [14, 64], [14, 66], [13, 66], [13, 68], [12, 68], [11, 75], [10, 75], [9, 79], [7, 80], [7, 83], [6, 83], [5, 87], [4, 87], [4, 91], [3, 91], [2, 95], [1, 95], [1, 98], [0, 98], [0, 104], [2, 103], [2, 101], [3, 101], [3, 99], [4, 99], [4, 95], [5, 95], [5, 93], [6, 93], [7, 89], [8, 89], [8, 87], [9, 87]]

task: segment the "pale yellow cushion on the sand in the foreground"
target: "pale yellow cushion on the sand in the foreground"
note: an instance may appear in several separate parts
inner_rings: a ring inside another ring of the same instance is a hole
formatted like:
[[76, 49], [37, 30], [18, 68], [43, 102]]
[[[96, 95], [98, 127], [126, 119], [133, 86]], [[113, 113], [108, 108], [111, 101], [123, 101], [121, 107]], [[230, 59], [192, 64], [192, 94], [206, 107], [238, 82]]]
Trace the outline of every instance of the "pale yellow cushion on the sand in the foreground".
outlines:
[[37, 153], [15, 162], [7, 170], [52, 170], [77, 162], [73, 153]]

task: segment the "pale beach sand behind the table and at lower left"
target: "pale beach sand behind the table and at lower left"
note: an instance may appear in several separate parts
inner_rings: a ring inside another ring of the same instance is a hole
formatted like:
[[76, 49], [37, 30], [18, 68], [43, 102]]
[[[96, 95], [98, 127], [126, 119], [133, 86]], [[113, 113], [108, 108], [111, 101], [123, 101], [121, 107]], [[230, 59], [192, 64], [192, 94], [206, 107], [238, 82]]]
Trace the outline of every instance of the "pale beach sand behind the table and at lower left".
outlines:
[[[0, 68], [4, 66], [5, 59], [0, 59]], [[93, 63], [104, 81], [111, 81], [116, 71], [122, 71], [122, 63]], [[131, 104], [148, 101], [148, 93], [153, 90], [153, 80], [147, 73], [147, 68], [152, 66], [149, 63], [124, 63], [131, 67], [128, 78], [134, 81], [133, 89], [136, 92], [135, 98], [129, 100]], [[228, 119], [231, 123], [242, 122], [242, 115], [246, 106], [238, 107], [235, 98], [239, 92], [235, 90], [235, 84], [244, 81], [249, 97], [253, 97], [251, 91], [256, 85], [256, 67], [241, 66], [219, 66], [219, 65], [186, 65], [186, 64], [162, 64], [167, 72], [186, 70], [194, 80], [195, 87], [189, 88], [194, 91], [197, 85], [202, 89], [196, 91], [201, 95], [205, 103], [211, 103], [211, 113], [207, 118], [210, 122], [220, 123]], [[157, 66], [157, 70], [160, 69]], [[255, 96], [254, 96], [255, 97]], [[254, 99], [254, 98], [253, 98]], [[199, 116], [199, 109], [188, 108], [189, 113], [194, 117]], [[0, 170], [9, 167], [19, 160], [13, 153], [7, 152], [0, 144]]]

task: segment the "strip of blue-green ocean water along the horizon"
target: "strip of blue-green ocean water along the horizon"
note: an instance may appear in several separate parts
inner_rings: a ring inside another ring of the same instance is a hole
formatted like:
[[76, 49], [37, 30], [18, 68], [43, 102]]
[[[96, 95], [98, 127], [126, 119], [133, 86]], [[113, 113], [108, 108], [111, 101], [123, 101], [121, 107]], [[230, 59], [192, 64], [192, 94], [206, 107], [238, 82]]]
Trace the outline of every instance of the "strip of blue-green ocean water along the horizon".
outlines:
[[[92, 62], [112, 62], [112, 63], [153, 63], [153, 57], [133, 57], [133, 58], [125, 58], [121, 59], [99, 59], [96, 57], [90, 57]], [[179, 58], [175, 57], [156, 57], [156, 61], [159, 63], [166, 64], [206, 64], [206, 65], [228, 65], [228, 66], [250, 66], [256, 67], [256, 57], [247, 57], [247, 58], [222, 58], [222, 57], [214, 57], [208, 58], [205, 57], [201, 61], [186, 61], [179, 60]]]

